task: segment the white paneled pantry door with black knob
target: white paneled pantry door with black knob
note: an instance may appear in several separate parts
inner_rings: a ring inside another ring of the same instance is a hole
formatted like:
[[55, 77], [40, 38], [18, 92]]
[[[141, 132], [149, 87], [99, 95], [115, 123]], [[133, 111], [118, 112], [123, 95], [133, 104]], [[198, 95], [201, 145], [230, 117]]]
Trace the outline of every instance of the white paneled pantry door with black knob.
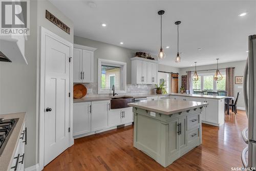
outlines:
[[70, 47], [45, 38], [44, 165], [69, 147]]

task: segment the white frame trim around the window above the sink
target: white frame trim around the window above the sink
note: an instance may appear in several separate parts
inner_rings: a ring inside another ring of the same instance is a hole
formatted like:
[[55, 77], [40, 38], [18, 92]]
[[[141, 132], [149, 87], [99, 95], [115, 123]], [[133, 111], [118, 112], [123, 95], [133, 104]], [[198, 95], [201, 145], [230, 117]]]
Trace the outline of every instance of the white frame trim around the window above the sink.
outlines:
[[126, 93], [126, 62], [120, 62], [108, 59], [98, 59], [98, 94], [111, 94], [111, 89], [101, 89], [101, 66], [120, 67], [120, 89], [116, 89], [116, 93]]

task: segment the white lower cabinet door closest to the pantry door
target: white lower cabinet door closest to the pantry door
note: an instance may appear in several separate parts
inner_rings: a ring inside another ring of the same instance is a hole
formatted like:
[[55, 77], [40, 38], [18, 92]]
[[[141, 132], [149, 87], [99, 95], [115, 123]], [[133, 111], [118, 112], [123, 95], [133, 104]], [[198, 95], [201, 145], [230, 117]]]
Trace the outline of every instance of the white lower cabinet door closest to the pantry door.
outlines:
[[73, 105], [73, 135], [91, 132], [91, 102], [74, 103]]

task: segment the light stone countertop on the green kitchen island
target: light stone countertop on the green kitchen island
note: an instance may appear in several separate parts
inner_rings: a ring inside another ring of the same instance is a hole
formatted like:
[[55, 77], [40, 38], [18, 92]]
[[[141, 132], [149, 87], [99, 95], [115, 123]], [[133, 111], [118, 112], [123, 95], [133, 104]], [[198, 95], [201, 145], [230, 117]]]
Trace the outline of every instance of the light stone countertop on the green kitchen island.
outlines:
[[144, 101], [136, 103], [128, 103], [129, 106], [136, 108], [157, 112], [165, 115], [171, 115], [178, 112], [183, 112], [195, 108], [200, 108], [202, 106], [208, 105], [204, 102], [196, 101], [184, 101], [184, 100], [175, 100], [175, 99], [164, 99], [157, 101]]

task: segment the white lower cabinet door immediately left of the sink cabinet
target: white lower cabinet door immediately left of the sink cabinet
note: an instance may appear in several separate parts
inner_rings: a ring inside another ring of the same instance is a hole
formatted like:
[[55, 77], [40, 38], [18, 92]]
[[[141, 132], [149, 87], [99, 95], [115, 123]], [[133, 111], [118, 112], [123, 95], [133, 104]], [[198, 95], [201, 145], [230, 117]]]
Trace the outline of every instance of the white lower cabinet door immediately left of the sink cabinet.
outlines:
[[108, 127], [108, 112], [110, 111], [110, 100], [93, 101], [92, 110], [92, 131], [103, 130]]

